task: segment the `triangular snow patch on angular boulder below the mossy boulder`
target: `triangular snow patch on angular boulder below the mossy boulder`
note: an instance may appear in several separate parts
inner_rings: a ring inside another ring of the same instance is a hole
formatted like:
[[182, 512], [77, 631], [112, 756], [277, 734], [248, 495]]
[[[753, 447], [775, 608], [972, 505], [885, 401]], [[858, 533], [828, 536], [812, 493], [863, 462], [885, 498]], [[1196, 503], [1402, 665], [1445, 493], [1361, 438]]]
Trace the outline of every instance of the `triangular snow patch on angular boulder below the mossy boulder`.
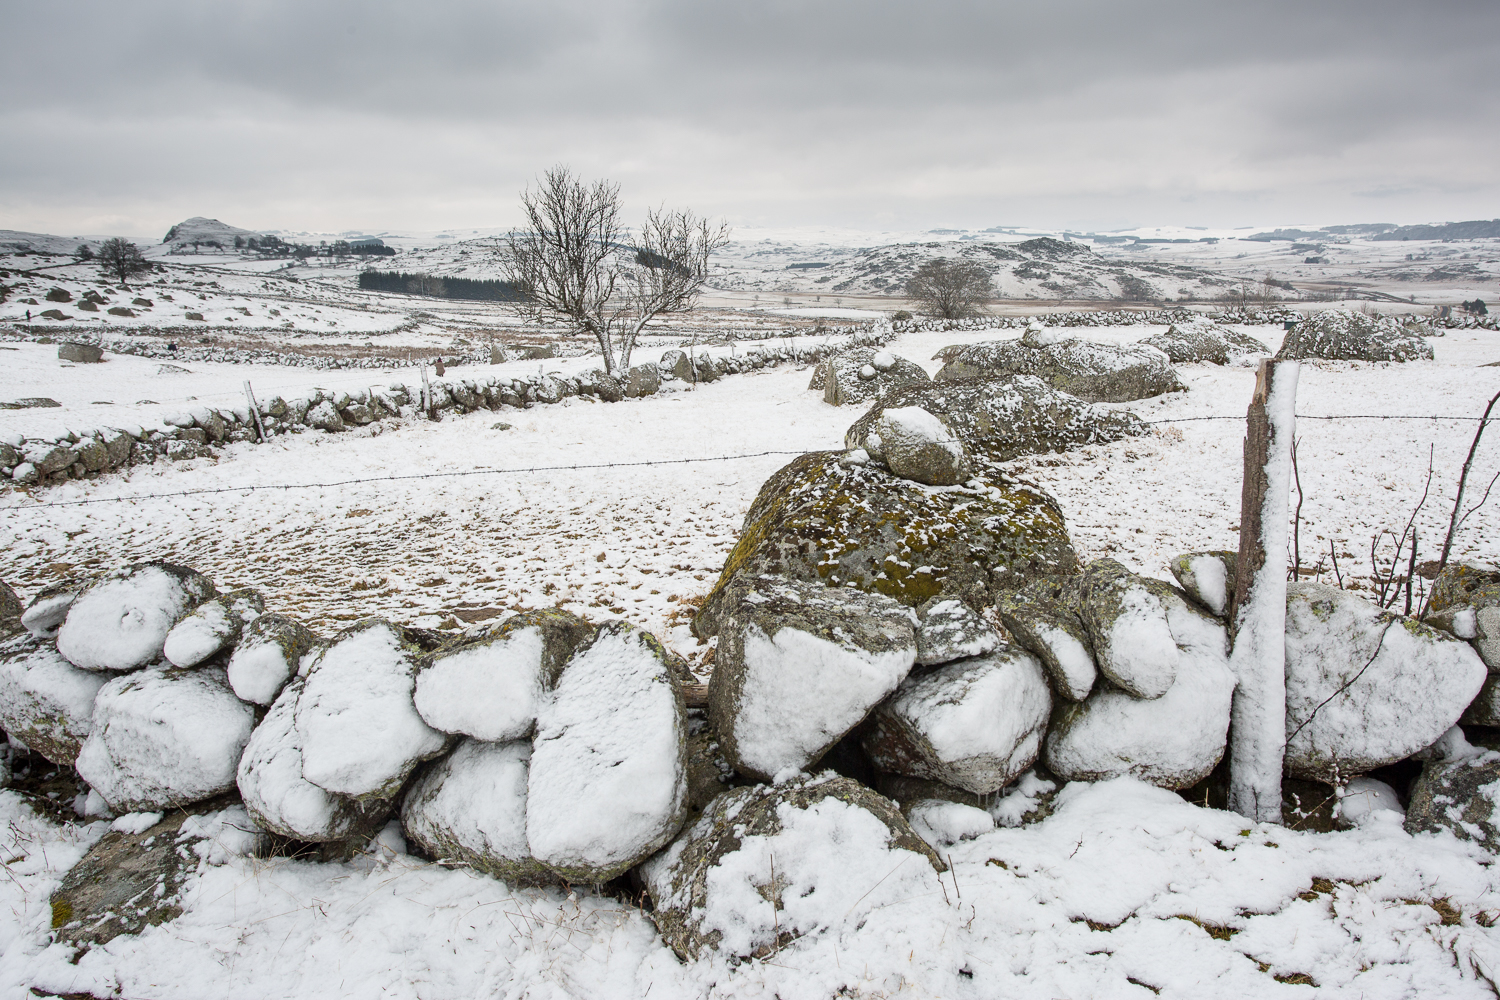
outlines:
[[915, 649], [868, 652], [796, 628], [744, 636], [744, 685], [734, 733], [760, 774], [806, 768], [896, 690]]

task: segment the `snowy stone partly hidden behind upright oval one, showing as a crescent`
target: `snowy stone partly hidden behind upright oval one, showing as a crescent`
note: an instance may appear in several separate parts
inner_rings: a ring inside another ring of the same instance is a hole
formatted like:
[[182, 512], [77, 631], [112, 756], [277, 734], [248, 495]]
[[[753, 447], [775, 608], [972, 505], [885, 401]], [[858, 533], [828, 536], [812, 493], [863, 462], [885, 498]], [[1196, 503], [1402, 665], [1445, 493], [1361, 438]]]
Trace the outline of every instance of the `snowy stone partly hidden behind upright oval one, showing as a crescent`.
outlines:
[[320, 789], [302, 777], [297, 700], [302, 681], [288, 684], [250, 733], [236, 769], [236, 784], [250, 817], [266, 831], [298, 841], [357, 841], [390, 814], [390, 802], [360, 802]]

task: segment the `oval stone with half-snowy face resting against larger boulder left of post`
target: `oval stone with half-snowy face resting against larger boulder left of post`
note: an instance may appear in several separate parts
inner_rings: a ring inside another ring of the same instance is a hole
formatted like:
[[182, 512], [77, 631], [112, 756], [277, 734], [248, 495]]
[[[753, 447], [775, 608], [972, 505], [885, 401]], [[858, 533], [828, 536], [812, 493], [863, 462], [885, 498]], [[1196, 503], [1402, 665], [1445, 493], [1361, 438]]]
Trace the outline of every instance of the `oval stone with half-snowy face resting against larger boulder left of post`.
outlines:
[[1095, 559], [1078, 583], [1078, 616], [1100, 672], [1138, 699], [1166, 694], [1178, 670], [1178, 643], [1154, 589], [1114, 559]]

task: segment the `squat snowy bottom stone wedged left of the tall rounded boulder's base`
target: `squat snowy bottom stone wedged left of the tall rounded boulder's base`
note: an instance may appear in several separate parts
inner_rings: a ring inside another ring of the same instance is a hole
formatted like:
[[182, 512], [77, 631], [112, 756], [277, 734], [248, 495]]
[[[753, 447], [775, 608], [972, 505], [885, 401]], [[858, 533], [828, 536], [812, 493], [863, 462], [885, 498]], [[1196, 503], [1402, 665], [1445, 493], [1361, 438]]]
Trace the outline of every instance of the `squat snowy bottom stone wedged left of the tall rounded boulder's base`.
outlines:
[[465, 864], [513, 886], [554, 882], [526, 843], [530, 765], [530, 741], [465, 739], [406, 792], [400, 807], [406, 838], [438, 861]]

